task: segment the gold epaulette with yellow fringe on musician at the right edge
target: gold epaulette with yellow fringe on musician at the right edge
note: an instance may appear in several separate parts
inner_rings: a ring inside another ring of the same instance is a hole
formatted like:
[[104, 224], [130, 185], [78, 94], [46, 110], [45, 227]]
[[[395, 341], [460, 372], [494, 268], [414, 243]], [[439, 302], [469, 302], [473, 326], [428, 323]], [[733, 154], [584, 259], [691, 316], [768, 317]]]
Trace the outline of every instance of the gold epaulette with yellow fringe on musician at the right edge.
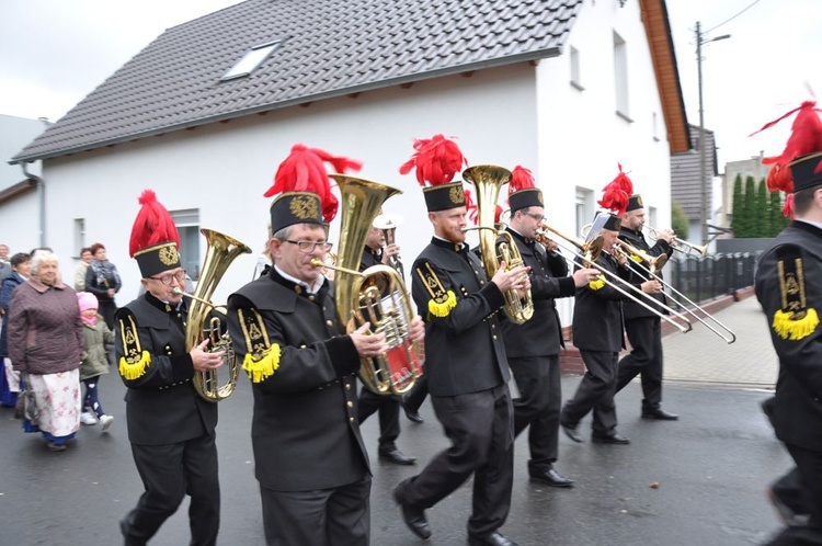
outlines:
[[799, 247], [788, 244], [776, 251], [781, 308], [774, 314], [772, 326], [784, 340], [797, 341], [819, 327], [819, 315], [808, 306], [804, 291], [804, 268]]

